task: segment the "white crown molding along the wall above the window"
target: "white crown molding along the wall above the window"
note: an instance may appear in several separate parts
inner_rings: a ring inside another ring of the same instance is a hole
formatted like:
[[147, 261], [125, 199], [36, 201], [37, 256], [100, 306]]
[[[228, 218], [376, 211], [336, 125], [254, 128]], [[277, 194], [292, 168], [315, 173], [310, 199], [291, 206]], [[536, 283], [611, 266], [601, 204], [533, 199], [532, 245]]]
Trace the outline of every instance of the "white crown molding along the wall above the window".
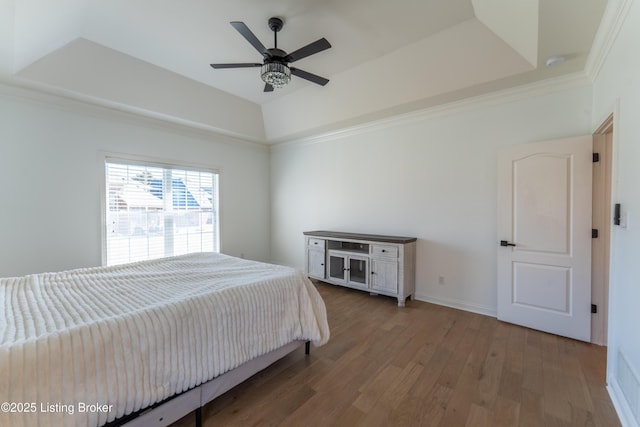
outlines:
[[168, 114], [162, 114], [139, 107], [133, 107], [102, 98], [59, 89], [11, 76], [0, 75], [0, 94], [28, 99], [53, 107], [100, 117], [113, 117], [149, 127], [172, 131], [182, 135], [205, 138], [214, 142], [244, 145], [249, 148], [268, 150], [263, 140], [250, 139], [243, 135], [218, 129]]

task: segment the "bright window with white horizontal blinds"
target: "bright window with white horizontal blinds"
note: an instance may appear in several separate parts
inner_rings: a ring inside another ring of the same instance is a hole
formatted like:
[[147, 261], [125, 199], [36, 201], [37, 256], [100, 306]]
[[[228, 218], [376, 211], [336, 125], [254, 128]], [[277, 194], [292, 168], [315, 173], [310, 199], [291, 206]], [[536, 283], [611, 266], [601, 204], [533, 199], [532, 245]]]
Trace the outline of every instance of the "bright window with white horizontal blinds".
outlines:
[[217, 252], [218, 175], [108, 158], [105, 262]]

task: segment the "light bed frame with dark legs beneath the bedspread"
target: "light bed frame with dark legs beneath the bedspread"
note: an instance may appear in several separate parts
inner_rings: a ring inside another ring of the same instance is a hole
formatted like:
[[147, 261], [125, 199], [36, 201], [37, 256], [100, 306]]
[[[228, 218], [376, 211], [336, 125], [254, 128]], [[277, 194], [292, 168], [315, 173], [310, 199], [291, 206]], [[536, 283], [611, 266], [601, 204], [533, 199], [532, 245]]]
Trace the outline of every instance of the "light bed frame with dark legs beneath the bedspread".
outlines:
[[308, 355], [310, 351], [309, 341], [293, 341], [283, 347], [250, 360], [204, 384], [200, 384], [191, 390], [153, 404], [149, 408], [125, 415], [122, 418], [105, 424], [103, 427], [164, 427], [194, 411], [196, 427], [201, 427], [202, 407], [204, 405], [262, 371], [277, 360], [297, 350], [302, 344], [305, 346], [305, 354]]

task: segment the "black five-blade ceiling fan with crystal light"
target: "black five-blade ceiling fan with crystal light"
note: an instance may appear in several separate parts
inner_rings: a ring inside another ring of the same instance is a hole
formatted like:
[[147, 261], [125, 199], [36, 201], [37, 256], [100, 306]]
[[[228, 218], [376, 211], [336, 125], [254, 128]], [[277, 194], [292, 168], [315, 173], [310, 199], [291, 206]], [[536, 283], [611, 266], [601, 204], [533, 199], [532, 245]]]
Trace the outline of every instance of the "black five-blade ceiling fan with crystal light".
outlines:
[[264, 91], [272, 92], [274, 87], [281, 88], [286, 86], [291, 80], [291, 74], [301, 77], [310, 82], [319, 84], [321, 86], [329, 83], [328, 79], [301, 70], [299, 68], [289, 67], [291, 62], [298, 61], [307, 56], [313, 55], [318, 52], [322, 52], [325, 49], [329, 49], [331, 45], [324, 37], [316, 40], [313, 43], [301, 47], [300, 49], [287, 53], [282, 49], [278, 49], [278, 31], [282, 29], [284, 22], [280, 18], [269, 18], [269, 28], [273, 31], [274, 47], [267, 49], [258, 40], [258, 38], [251, 32], [244, 22], [233, 21], [231, 22], [233, 28], [245, 38], [251, 45], [256, 48], [262, 55], [264, 61], [259, 63], [239, 63], [239, 64], [211, 64], [213, 68], [249, 68], [249, 67], [261, 67], [260, 77], [264, 81]]

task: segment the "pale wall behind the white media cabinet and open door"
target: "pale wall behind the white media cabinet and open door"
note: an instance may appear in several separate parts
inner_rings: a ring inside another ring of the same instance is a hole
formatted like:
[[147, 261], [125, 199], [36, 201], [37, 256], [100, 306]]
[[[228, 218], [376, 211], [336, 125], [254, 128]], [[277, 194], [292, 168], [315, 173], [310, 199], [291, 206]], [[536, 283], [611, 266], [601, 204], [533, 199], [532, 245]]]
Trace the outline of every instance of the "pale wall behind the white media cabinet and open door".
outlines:
[[581, 87], [276, 146], [272, 260], [304, 268], [305, 230], [416, 236], [416, 297], [495, 315], [497, 150], [588, 134], [590, 105]]

